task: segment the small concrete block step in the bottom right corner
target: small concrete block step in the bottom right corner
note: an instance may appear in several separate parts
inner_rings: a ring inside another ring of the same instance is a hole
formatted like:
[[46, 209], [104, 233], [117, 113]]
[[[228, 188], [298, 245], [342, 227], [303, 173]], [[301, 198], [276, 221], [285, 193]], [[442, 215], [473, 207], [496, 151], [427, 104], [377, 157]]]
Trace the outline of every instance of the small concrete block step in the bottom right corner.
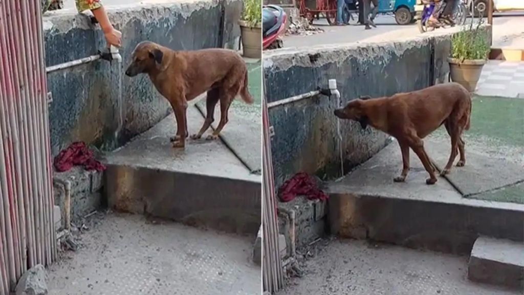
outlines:
[[479, 237], [471, 251], [467, 277], [524, 291], [524, 244]]

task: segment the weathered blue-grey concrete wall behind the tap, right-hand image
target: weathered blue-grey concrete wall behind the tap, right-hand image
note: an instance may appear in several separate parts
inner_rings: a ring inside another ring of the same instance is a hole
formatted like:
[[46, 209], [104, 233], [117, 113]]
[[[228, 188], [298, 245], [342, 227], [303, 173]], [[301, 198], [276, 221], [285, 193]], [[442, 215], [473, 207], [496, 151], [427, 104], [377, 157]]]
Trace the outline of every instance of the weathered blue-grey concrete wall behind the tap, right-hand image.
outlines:
[[[486, 29], [487, 31], [490, 28]], [[435, 32], [395, 43], [345, 44], [269, 51], [264, 55], [265, 99], [274, 102], [328, 87], [336, 79], [341, 104], [359, 96], [390, 96], [447, 81], [451, 35]], [[489, 34], [490, 36], [490, 34]], [[314, 97], [271, 108], [275, 185], [303, 171], [321, 178], [340, 176], [387, 144], [388, 137], [355, 122], [341, 121], [337, 140], [334, 98]]]

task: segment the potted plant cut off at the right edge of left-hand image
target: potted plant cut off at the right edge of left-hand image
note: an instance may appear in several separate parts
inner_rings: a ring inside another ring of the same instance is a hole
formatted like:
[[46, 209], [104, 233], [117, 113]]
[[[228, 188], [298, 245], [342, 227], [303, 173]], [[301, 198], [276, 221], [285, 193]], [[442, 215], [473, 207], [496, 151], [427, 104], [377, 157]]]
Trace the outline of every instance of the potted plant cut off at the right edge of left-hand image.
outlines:
[[245, 0], [242, 19], [238, 21], [241, 30], [244, 56], [260, 58], [262, 55], [262, 3], [260, 0]]

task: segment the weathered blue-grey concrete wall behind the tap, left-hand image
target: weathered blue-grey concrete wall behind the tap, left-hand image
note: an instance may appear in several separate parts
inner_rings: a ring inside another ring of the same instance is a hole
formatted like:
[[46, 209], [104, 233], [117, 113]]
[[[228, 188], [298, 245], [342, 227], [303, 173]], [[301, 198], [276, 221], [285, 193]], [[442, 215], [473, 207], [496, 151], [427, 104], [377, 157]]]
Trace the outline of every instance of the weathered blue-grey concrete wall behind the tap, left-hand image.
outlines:
[[[111, 8], [123, 34], [122, 65], [95, 61], [48, 75], [52, 92], [49, 118], [53, 155], [73, 141], [111, 150], [163, 119], [168, 103], [146, 76], [128, 78], [124, 70], [135, 46], [151, 40], [176, 50], [234, 48], [242, 2], [206, 0], [155, 6]], [[96, 55], [105, 39], [85, 15], [48, 12], [43, 19], [46, 66]], [[119, 71], [122, 69], [122, 99]], [[123, 127], [118, 130], [122, 106]]]

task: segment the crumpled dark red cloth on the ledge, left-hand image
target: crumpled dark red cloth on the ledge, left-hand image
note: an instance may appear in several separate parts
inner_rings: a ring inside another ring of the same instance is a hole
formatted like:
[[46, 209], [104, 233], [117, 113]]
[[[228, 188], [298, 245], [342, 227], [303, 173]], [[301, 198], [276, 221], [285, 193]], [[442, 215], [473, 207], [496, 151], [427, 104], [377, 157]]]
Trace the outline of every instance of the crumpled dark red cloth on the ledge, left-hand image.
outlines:
[[96, 161], [84, 142], [73, 142], [69, 148], [61, 151], [54, 158], [54, 168], [58, 172], [70, 170], [73, 166], [82, 165], [85, 170], [104, 171], [105, 166]]

